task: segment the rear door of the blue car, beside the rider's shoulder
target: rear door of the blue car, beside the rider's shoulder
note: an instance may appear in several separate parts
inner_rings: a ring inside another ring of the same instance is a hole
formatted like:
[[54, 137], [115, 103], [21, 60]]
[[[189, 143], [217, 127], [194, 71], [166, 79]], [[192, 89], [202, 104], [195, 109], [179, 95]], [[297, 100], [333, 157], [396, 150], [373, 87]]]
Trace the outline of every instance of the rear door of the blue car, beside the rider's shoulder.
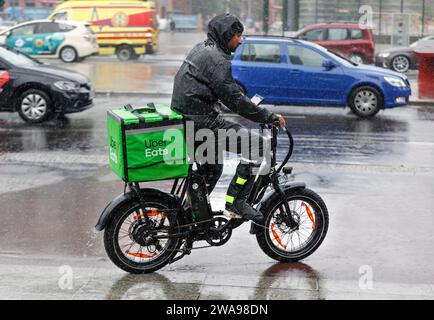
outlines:
[[247, 89], [249, 96], [259, 94], [265, 103], [279, 103], [283, 99], [280, 77], [286, 55], [280, 42], [249, 41], [243, 44], [232, 66], [234, 78]]

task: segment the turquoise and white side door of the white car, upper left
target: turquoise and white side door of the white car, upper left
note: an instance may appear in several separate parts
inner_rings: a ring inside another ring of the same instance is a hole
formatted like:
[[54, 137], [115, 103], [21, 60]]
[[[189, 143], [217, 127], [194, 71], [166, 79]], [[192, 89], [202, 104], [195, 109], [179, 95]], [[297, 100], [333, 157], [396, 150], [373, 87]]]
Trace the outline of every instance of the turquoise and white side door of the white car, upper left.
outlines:
[[38, 23], [35, 29], [33, 51], [36, 55], [54, 55], [64, 38], [58, 23]]

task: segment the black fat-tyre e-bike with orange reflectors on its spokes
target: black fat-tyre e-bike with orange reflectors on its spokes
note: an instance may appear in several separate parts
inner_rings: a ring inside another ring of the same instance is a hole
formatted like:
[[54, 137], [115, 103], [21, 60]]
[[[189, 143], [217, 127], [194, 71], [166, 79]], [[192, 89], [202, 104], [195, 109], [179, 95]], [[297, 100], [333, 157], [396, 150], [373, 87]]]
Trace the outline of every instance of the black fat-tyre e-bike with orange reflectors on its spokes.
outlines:
[[[299, 261], [315, 252], [324, 240], [327, 207], [304, 183], [285, 179], [292, 174], [292, 168], [286, 167], [294, 147], [290, 131], [281, 129], [288, 136], [289, 148], [278, 165], [279, 128], [262, 124], [261, 129], [270, 134], [271, 163], [268, 173], [257, 175], [248, 198], [265, 221], [264, 225], [252, 222], [251, 233], [269, 257], [281, 262]], [[192, 193], [196, 200], [186, 206]], [[186, 178], [174, 180], [170, 193], [126, 183], [124, 193], [101, 214], [96, 230], [104, 230], [104, 246], [115, 265], [130, 273], [149, 273], [193, 249], [224, 245], [232, 231], [247, 221], [228, 220], [223, 211], [212, 211], [201, 166], [195, 163]], [[195, 247], [198, 241], [207, 245]]]

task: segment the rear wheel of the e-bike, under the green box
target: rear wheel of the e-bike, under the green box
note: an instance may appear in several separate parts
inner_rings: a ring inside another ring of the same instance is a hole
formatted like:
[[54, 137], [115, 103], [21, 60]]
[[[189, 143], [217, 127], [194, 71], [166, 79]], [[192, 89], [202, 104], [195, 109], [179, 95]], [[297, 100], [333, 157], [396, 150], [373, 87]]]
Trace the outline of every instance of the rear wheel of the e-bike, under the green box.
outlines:
[[[167, 215], [163, 201], [145, 198], [142, 210], [136, 201], [118, 208], [104, 232], [104, 247], [110, 260], [129, 273], [150, 273], [163, 268], [176, 255], [180, 239], [155, 239], [153, 235], [178, 232], [179, 222]], [[144, 220], [144, 212], [150, 224]]]

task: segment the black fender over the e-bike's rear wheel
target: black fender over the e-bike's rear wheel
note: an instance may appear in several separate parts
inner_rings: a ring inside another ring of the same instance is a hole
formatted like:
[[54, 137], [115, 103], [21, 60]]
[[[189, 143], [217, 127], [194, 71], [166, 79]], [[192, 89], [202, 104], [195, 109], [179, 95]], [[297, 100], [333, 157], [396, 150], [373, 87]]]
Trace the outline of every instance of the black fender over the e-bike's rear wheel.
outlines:
[[[151, 197], [159, 197], [164, 198], [168, 200], [168, 203], [172, 202], [175, 203], [175, 201], [178, 201], [178, 198], [170, 193], [163, 192], [158, 189], [153, 188], [142, 188], [140, 189], [141, 193], [144, 196], [151, 196]], [[123, 206], [125, 203], [132, 201], [133, 199], [136, 199], [136, 194], [134, 191], [128, 191], [126, 193], [122, 193], [118, 195], [116, 198], [114, 198], [110, 203], [105, 207], [103, 212], [101, 213], [101, 216], [98, 219], [98, 223], [95, 226], [95, 229], [97, 231], [102, 231], [105, 229], [107, 224], [111, 221], [113, 217], [113, 213], [116, 211], [117, 208], [120, 206]]]

